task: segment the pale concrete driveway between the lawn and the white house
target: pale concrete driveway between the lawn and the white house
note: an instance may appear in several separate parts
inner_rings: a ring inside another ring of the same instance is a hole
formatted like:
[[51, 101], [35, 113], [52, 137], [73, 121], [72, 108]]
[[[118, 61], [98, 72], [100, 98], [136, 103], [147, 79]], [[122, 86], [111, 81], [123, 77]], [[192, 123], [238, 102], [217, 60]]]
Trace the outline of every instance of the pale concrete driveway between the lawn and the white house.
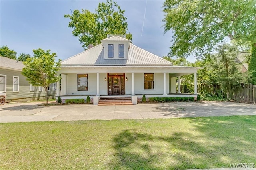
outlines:
[[256, 115], [256, 105], [233, 102], [146, 103], [128, 106], [42, 104], [44, 102], [6, 103], [0, 107], [0, 122]]

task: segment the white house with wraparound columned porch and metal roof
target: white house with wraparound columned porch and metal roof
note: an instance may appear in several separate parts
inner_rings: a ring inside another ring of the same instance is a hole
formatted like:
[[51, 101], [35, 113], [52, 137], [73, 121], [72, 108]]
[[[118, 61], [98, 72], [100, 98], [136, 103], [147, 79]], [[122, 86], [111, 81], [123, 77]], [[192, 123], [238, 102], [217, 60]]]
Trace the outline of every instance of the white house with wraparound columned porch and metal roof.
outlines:
[[[194, 94], [182, 96], [196, 97], [196, 73], [200, 69], [173, 66], [120, 36], [101, 40], [101, 44], [62, 61], [60, 68], [61, 91], [57, 87], [56, 96], [62, 99], [94, 96], [94, 104], [101, 95], [131, 95], [133, 103], [142, 95], [176, 97], [181, 95], [175, 94], [176, 77], [187, 74], [194, 74]], [[178, 89], [180, 93], [180, 85]]]

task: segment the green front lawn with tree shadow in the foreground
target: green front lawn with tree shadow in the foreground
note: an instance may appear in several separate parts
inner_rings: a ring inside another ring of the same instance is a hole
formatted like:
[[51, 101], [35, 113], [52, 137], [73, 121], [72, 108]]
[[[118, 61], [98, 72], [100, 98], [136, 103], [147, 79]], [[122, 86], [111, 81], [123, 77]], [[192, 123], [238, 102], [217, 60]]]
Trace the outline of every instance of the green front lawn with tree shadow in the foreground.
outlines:
[[256, 163], [256, 116], [1, 123], [1, 169], [192, 169]]

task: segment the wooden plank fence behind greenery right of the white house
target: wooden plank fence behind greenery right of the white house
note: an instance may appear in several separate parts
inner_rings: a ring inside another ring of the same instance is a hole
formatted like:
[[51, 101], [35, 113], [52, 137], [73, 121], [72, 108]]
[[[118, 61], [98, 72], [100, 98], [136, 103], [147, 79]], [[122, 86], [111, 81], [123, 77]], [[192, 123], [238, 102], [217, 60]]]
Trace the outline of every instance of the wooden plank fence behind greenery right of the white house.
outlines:
[[[216, 88], [221, 89], [220, 86]], [[231, 88], [229, 93], [229, 99], [242, 102], [242, 103], [254, 103], [256, 102], [256, 85], [252, 85], [250, 83], [243, 84], [241, 83], [240, 86], [236, 86]], [[213, 93], [213, 89], [211, 87], [206, 87], [204, 85], [198, 85], [198, 93]], [[224, 94], [227, 96], [227, 94]]]

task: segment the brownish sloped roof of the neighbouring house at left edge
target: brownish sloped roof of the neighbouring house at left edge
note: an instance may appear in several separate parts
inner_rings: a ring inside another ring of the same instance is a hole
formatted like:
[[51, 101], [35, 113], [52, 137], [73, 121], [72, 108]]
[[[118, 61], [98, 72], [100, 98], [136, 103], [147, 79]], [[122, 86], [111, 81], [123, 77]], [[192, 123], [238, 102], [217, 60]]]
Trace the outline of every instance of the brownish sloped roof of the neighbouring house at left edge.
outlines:
[[22, 71], [24, 64], [16, 59], [10, 59], [0, 56], [0, 67], [3, 69], [14, 69]]

